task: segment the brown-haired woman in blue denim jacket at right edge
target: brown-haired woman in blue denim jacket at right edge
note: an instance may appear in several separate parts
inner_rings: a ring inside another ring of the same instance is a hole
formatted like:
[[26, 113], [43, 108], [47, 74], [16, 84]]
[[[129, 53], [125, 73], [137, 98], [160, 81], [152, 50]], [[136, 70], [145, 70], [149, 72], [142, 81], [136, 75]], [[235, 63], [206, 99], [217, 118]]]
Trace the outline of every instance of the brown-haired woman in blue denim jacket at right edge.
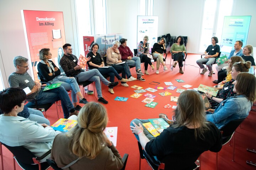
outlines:
[[250, 73], [239, 73], [233, 89], [237, 96], [229, 97], [221, 102], [215, 111], [208, 109], [206, 119], [219, 129], [231, 120], [246, 118], [256, 100], [256, 77]]

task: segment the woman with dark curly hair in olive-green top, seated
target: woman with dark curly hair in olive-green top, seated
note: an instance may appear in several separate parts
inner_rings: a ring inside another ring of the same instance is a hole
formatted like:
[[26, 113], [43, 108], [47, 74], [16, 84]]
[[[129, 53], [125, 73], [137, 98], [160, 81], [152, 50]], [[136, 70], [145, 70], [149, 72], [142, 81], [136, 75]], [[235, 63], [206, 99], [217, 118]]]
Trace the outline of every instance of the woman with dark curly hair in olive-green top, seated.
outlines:
[[176, 43], [172, 44], [171, 53], [173, 53], [173, 57], [174, 57], [174, 61], [175, 61], [173, 67], [176, 67], [176, 64], [178, 63], [181, 74], [183, 74], [182, 61], [183, 61], [183, 58], [185, 56], [185, 54], [184, 54], [185, 52], [186, 52], [186, 48], [184, 46], [184, 39], [183, 39], [182, 36], [178, 36], [176, 38]]

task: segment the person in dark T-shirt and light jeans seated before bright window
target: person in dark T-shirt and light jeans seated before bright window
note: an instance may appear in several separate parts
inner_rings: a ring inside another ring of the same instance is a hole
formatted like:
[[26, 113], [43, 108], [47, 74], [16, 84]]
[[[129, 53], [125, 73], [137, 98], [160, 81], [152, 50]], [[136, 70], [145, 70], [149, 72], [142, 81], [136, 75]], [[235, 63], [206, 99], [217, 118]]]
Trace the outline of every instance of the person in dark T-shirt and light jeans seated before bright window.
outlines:
[[201, 69], [203, 69], [203, 71], [200, 74], [204, 74], [208, 71], [207, 68], [205, 68], [204, 65], [203, 65], [204, 62], [207, 62], [206, 66], [209, 69], [208, 76], [212, 76], [212, 74], [213, 74], [212, 64], [215, 61], [215, 57], [218, 57], [219, 52], [220, 52], [220, 46], [217, 45], [218, 42], [219, 41], [218, 41], [218, 38], [216, 36], [212, 37], [212, 45], [209, 45], [207, 47], [206, 51], [204, 51], [205, 57], [196, 61], [198, 66]]

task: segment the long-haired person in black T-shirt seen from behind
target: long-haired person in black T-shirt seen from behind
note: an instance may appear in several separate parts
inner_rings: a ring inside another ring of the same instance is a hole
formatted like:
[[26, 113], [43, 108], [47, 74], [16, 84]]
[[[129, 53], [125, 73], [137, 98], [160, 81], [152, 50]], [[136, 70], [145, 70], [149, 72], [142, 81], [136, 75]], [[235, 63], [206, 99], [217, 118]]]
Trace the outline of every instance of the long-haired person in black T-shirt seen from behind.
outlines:
[[165, 163], [165, 169], [193, 169], [201, 153], [219, 152], [222, 148], [222, 135], [213, 123], [206, 121], [203, 99], [197, 91], [181, 93], [174, 124], [159, 136], [154, 137], [142, 125], [147, 122], [134, 119], [130, 129], [148, 155]]

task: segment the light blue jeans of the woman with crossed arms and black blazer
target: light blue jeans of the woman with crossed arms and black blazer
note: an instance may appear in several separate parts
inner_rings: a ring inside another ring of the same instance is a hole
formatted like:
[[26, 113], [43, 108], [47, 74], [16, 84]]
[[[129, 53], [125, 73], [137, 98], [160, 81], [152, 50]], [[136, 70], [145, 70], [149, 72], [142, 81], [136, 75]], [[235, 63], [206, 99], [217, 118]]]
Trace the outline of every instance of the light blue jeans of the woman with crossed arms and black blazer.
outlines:
[[71, 90], [72, 102], [73, 103], [78, 102], [76, 93], [80, 92], [80, 88], [74, 77], [62, 77], [62, 78], [55, 77], [53, 80], [50, 80], [48, 82], [52, 84], [62, 83], [61, 85], [64, 87], [66, 91]]

